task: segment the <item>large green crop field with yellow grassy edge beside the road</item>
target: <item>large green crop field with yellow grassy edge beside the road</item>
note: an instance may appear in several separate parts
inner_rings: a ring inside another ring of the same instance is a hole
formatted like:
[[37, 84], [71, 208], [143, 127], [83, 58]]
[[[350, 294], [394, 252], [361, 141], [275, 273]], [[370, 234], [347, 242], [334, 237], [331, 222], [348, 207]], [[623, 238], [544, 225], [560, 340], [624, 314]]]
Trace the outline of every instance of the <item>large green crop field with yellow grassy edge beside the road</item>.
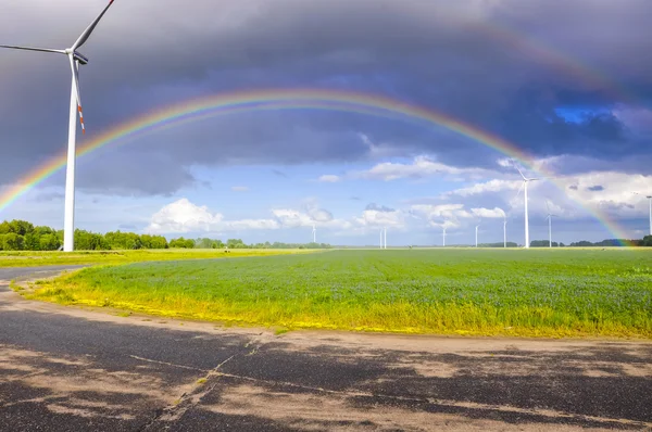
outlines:
[[643, 250], [333, 251], [87, 268], [24, 295], [285, 329], [652, 338]]

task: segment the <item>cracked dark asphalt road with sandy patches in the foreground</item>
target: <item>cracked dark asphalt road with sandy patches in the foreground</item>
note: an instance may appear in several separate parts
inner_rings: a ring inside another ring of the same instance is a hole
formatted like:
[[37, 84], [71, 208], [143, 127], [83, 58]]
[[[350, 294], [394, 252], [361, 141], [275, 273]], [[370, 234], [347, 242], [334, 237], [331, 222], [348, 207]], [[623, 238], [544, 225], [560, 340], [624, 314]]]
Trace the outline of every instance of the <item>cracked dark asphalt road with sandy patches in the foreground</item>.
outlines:
[[231, 329], [23, 300], [0, 430], [652, 430], [652, 343]]

